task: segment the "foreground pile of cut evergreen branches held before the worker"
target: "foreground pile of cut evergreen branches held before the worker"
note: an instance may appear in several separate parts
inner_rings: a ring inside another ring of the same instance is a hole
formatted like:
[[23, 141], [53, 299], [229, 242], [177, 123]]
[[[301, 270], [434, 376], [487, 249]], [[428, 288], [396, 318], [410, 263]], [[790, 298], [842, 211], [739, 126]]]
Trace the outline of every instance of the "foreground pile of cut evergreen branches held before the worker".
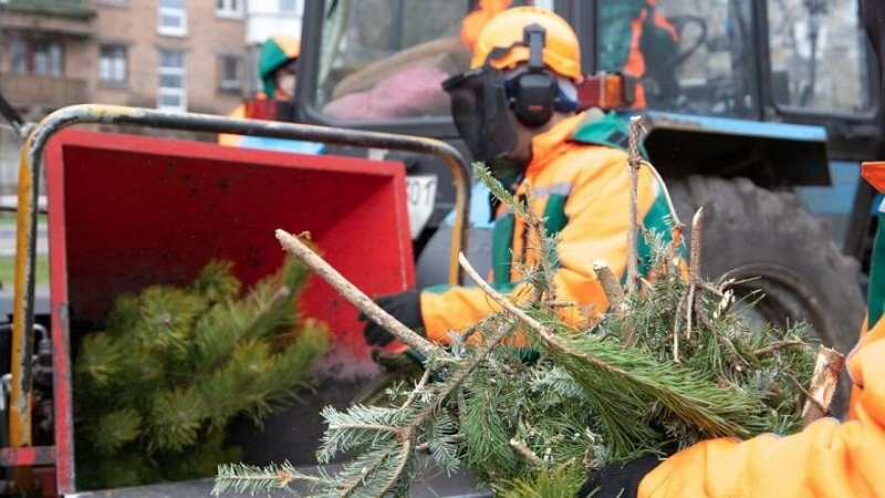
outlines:
[[[454, 334], [450, 347], [433, 349], [424, 375], [391, 388], [391, 403], [323, 411], [329, 428], [319, 461], [348, 452], [357, 455], [351, 464], [336, 475], [226, 465], [215, 494], [294, 492], [299, 484], [310, 496], [407, 496], [423, 471], [418, 454], [429, 453], [446, 470], [466, 467], [499, 496], [574, 496], [589, 473], [611, 461], [801, 427], [815, 356], [804, 325], [782, 331], [747, 320], [753, 303], [736, 303], [728, 282], [701, 281], [695, 260], [686, 274], [678, 240], [638, 234], [652, 248], [655, 278], [628, 269], [624, 289], [600, 264], [611, 305], [605, 314], [590, 310], [587, 328], [569, 326], [556, 318], [555, 241], [543, 220], [483, 168], [476, 173], [539, 231], [546, 256], [524, 269], [533, 294], [513, 302], [471, 273], [503, 311]], [[278, 238], [290, 252], [298, 243], [284, 232]], [[464, 257], [461, 264], [471, 270]], [[476, 334], [481, 340], [468, 345]], [[528, 349], [506, 345], [516, 334]]]

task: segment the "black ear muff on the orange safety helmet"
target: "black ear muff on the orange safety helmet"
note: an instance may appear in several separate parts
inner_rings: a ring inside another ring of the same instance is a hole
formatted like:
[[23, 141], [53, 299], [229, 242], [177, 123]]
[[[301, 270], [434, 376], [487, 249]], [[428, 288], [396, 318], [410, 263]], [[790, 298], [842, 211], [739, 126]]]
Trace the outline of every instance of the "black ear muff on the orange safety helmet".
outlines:
[[528, 71], [510, 84], [510, 108], [520, 123], [529, 127], [541, 126], [550, 121], [559, 94], [556, 79], [544, 70], [545, 38], [546, 32], [540, 24], [525, 27], [523, 43], [529, 46]]

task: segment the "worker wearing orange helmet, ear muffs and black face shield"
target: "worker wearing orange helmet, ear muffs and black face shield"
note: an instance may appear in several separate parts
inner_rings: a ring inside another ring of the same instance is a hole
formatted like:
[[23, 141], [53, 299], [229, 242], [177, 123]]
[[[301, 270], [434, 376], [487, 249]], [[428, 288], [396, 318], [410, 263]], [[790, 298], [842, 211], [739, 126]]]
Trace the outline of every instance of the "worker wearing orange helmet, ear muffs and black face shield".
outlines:
[[[577, 112], [575, 83], [582, 79], [577, 37], [568, 22], [549, 10], [518, 7], [486, 24], [471, 69], [444, 83], [473, 158], [517, 198], [530, 198], [548, 235], [559, 237], [556, 299], [572, 305], [558, 313], [575, 326], [587, 309], [601, 313], [608, 304], [593, 263], [605, 260], [616, 276], [625, 273], [631, 221], [627, 129], [614, 115]], [[507, 206], [492, 212], [492, 283], [512, 300], [525, 299], [530, 284], [522, 269], [540, 260], [540, 241]], [[664, 185], [641, 168], [638, 221], [666, 236], [670, 216]], [[638, 255], [648, 256], [644, 240], [639, 246]], [[479, 288], [460, 286], [406, 291], [377, 303], [441, 344], [450, 342], [450, 331], [500, 309]], [[364, 334], [373, 345], [393, 340], [371, 321]]]

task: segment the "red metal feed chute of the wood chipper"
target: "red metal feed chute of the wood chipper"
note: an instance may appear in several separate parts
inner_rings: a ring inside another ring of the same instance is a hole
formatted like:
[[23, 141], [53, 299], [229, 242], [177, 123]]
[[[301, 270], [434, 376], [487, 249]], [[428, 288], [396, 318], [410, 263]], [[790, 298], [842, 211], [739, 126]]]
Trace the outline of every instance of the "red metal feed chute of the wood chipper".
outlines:
[[[285, 256], [277, 228], [309, 231], [323, 257], [371, 297], [414, 282], [400, 163], [64, 131], [50, 142], [45, 168], [53, 336], [70, 338], [72, 355], [123, 293], [189, 283], [212, 258], [233, 261], [244, 287], [273, 272]], [[263, 430], [235, 429], [254, 463], [314, 463], [320, 409], [350, 401], [378, 369], [357, 310], [327, 283], [312, 276], [301, 304], [329, 324], [330, 353], [306, 404]], [[70, 434], [56, 440], [64, 450]]]

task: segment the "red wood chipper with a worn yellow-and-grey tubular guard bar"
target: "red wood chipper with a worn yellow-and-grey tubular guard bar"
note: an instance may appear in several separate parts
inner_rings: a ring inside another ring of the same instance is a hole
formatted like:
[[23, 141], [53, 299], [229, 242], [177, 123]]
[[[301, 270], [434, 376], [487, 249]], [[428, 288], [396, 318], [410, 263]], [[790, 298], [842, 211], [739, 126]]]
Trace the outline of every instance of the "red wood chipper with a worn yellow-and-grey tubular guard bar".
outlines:
[[[72, 391], [72, 359], [83, 333], [101, 326], [114, 297], [146, 286], [185, 282], [210, 258], [233, 261], [237, 277], [246, 284], [254, 282], [283, 259], [273, 238], [277, 228], [310, 232], [324, 258], [371, 297], [407, 289], [415, 281], [402, 163], [63, 131], [79, 123], [235, 133], [434, 155], [450, 167], [457, 191], [459, 228], [448, 264], [451, 281], [458, 281], [469, 174], [459, 153], [445, 143], [128, 107], [60, 110], [33, 128], [21, 155], [9, 433], [0, 449], [8, 490], [17, 496], [83, 496], [76, 485], [77, 394]], [[38, 317], [37, 199], [43, 191], [43, 175], [50, 310], [48, 317]], [[289, 459], [313, 467], [323, 430], [320, 409], [346, 405], [378, 369], [362, 338], [356, 309], [331, 287], [316, 278], [309, 280], [301, 307], [305, 314], [326, 322], [331, 332], [330, 353], [315, 369], [319, 385], [303, 394], [306, 403], [269, 419], [264, 430], [246, 427], [235, 435], [247, 461]], [[35, 347], [41, 323], [48, 324], [48, 334]], [[469, 478], [450, 479], [442, 473], [435, 479], [427, 484], [427, 492], [455, 496], [475, 490]], [[206, 479], [153, 490], [101, 492], [206, 496], [210, 487], [211, 480]], [[420, 489], [417, 486], [416, 492]]]

